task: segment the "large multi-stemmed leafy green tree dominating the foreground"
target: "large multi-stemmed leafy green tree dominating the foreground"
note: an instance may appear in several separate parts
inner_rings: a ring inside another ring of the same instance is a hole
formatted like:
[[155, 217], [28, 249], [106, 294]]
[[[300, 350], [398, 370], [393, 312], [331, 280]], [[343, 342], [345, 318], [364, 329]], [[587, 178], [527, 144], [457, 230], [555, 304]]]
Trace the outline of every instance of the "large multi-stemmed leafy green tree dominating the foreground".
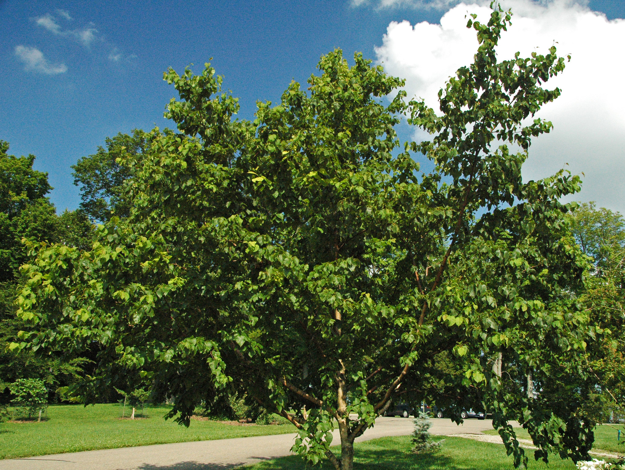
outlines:
[[[37, 331], [12, 347], [75, 354], [96, 341], [86, 396], [112, 364], [127, 367], [173, 396], [169, 416], [186, 424], [236, 384], [299, 429], [294, 451], [337, 469], [351, 470], [354, 439], [392, 399], [442, 400], [449, 387], [492, 410], [516, 464], [509, 419], [536, 458], [587, 457], [593, 423], [576, 404], [590, 326], [568, 294], [587, 260], [559, 202], [580, 182], [521, 178], [532, 136], [551, 129], [522, 123], [559, 96], [542, 84], [565, 60], [552, 47], [497, 61], [510, 19], [469, 21], [479, 47], [441, 90], [440, 114], [339, 50], [307, 90], [291, 83], [277, 106], [259, 103], [253, 122], [232, 118], [237, 100], [208, 64], [169, 69], [179, 133], [155, 129], [149, 149], [121, 154], [129, 216], [101, 227], [92, 250], [31, 244], [18, 315]], [[401, 116], [434, 138], [402, 146]], [[431, 173], [419, 174], [418, 152]], [[459, 383], [457, 367], [434, 367], [442, 359], [462, 368]]]

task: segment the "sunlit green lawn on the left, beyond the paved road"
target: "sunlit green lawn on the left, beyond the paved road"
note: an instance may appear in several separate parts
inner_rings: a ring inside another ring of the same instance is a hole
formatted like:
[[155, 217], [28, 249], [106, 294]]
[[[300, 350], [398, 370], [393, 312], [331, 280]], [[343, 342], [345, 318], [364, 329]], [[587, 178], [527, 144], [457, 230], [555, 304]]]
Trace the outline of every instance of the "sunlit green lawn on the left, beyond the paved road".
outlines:
[[[236, 426], [191, 420], [184, 427], [165, 421], [171, 407], [146, 406], [147, 419], [119, 419], [120, 404], [58, 405], [47, 409], [47, 421], [0, 423], [0, 458], [28, 457], [62, 452], [146, 446], [169, 442], [207, 441], [229, 437], [265, 436], [295, 432], [288, 424]], [[126, 406], [126, 416], [129, 407]]]

